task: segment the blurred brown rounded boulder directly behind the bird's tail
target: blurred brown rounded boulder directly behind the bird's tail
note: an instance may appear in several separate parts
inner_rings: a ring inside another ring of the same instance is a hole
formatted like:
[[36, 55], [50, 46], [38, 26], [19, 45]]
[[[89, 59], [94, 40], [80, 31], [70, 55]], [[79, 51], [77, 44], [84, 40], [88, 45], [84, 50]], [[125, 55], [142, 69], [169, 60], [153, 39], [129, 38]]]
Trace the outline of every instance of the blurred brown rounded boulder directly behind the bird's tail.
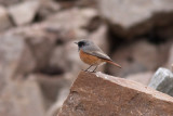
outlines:
[[123, 69], [109, 65], [108, 72], [111, 75], [124, 77], [130, 74], [155, 70], [167, 62], [169, 48], [168, 43], [157, 46], [146, 40], [124, 44], [111, 56]]

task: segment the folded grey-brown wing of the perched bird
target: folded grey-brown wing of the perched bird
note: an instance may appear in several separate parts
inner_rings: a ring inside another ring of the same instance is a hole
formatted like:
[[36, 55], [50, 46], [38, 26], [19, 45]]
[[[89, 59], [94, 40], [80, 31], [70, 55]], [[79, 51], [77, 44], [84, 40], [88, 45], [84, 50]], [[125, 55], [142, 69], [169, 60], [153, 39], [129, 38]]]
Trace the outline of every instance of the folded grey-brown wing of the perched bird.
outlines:
[[112, 61], [107, 54], [105, 54], [98, 47], [94, 47], [94, 48], [90, 48], [90, 49], [85, 49], [83, 50], [85, 53], [104, 59], [104, 60], [108, 60], [108, 61]]

